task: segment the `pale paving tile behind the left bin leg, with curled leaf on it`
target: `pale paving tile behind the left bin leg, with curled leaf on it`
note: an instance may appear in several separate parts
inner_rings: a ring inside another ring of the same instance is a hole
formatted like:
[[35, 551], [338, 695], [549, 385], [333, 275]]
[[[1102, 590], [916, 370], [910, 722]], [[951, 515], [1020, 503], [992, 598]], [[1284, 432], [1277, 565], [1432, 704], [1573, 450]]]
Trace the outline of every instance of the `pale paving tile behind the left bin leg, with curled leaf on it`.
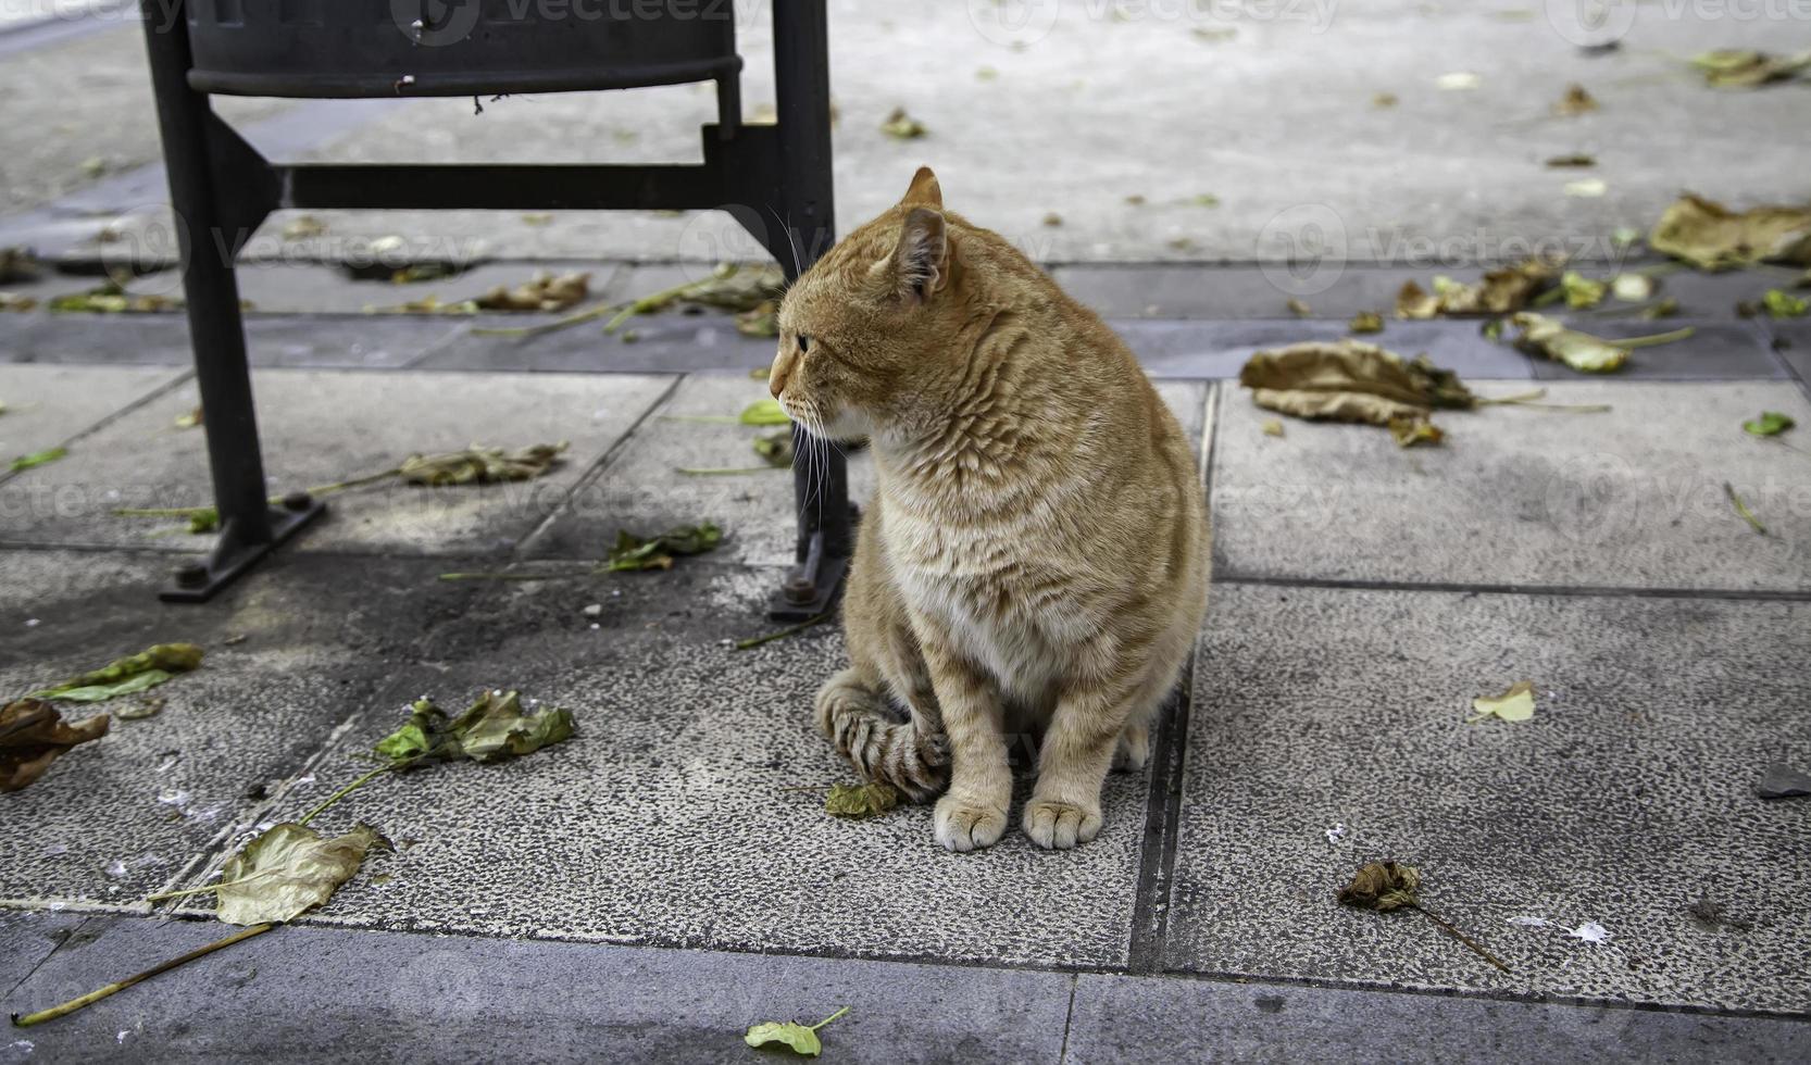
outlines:
[[[753, 384], [753, 382], [750, 382]], [[264, 369], [254, 375], [264, 471], [273, 491], [375, 473], [420, 451], [473, 442], [525, 447], [569, 440], [567, 462], [534, 482], [420, 489], [382, 485], [337, 496], [292, 549], [507, 549], [580, 482], [585, 469], [668, 388], [652, 377], [359, 373]], [[174, 429], [194, 409], [187, 382], [83, 442], [69, 458], [0, 487], [4, 538], [192, 549], [114, 507], [212, 502], [206, 442]]]

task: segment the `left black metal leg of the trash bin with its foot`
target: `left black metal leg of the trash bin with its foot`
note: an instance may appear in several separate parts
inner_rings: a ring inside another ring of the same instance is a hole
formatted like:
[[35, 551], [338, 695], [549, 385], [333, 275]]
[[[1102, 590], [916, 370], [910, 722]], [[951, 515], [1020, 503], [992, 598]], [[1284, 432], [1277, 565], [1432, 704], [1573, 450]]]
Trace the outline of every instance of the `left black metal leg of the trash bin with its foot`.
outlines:
[[208, 152], [212, 114], [206, 96], [188, 87], [187, 20], [181, 11], [168, 9], [159, 0], [145, 0], [143, 7], [158, 127], [181, 248], [188, 333], [196, 350], [196, 382], [201, 388], [208, 437], [208, 471], [214, 505], [219, 509], [219, 538], [208, 560], [181, 567], [176, 587], [163, 590], [159, 598], [199, 603], [319, 516], [322, 504], [299, 496], [288, 500], [293, 505], [270, 505], [264, 460], [257, 446], [257, 415], [252, 408], [244, 324], [239, 317], [239, 284], [234, 277], [234, 257], [250, 234], [226, 226], [221, 217], [216, 167]]

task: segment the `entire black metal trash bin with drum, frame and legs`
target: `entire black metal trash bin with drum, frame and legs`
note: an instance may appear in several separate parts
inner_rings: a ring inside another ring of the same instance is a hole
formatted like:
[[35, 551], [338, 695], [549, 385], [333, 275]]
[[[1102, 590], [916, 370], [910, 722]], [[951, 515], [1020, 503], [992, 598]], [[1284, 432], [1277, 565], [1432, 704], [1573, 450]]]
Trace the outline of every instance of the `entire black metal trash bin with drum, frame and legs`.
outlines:
[[[732, 0], [141, 0], [221, 532], [165, 600], [203, 601], [324, 505], [266, 500], [234, 261], [279, 208], [717, 208], [788, 273], [831, 245], [824, 0], [773, 5], [779, 121], [743, 125]], [[703, 165], [275, 165], [208, 94], [465, 96], [717, 83]], [[771, 219], [771, 221], [770, 221]], [[802, 447], [800, 447], [802, 451]], [[840, 453], [793, 473], [797, 567], [777, 618], [829, 609], [849, 556]], [[822, 500], [819, 505], [817, 500]]]

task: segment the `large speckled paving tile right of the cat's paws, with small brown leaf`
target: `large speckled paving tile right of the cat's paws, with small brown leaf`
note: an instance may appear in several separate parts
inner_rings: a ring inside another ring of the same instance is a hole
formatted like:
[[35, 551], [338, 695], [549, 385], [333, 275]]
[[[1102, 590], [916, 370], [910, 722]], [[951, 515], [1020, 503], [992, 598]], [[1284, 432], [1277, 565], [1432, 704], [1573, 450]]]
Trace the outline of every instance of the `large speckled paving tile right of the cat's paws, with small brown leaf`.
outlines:
[[[1753, 795], [1768, 763], [1811, 763], [1807, 621], [1804, 603], [1217, 587], [1168, 964], [1811, 1009], [1811, 806]], [[1465, 724], [1519, 679], [1534, 719]], [[1514, 974], [1418, 915], [1337, 906], [1376, 859], [1420, 866], [1427, 906]], [[1697, 927], [1701, 893], [1753, 927]], [[1568, 936], [1583, 922], [1612, 938]]]

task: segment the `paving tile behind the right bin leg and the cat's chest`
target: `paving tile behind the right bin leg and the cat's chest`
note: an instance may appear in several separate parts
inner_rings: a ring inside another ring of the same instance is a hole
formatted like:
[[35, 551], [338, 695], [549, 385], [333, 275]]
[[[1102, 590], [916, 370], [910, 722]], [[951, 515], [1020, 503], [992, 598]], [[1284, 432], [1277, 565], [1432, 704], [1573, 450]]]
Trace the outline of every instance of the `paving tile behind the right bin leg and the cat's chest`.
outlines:
[[[1159, 393], [1199, 442], [1206, 386], [1164, 382]], [[527, 545], [534, 556], [598, 558], [618, 527], [654, 532], [710, 518], [726, 532], [723, 551], [750, 565], [791, 565], [797, 536], [791, 475], [759, 469], [748, 426], [672, 420], [694, 415], [735, 415], [766, 398], [766, 382], [741, 373], [688, 377], [659, 415], [643, 422], [603, 475], [581, 485], [560, 516]], [[873, 496], [873, 462], [849, 451], [849, 498]], [[679, 469], [755, 469], [744, 475], [688, 476]]]

